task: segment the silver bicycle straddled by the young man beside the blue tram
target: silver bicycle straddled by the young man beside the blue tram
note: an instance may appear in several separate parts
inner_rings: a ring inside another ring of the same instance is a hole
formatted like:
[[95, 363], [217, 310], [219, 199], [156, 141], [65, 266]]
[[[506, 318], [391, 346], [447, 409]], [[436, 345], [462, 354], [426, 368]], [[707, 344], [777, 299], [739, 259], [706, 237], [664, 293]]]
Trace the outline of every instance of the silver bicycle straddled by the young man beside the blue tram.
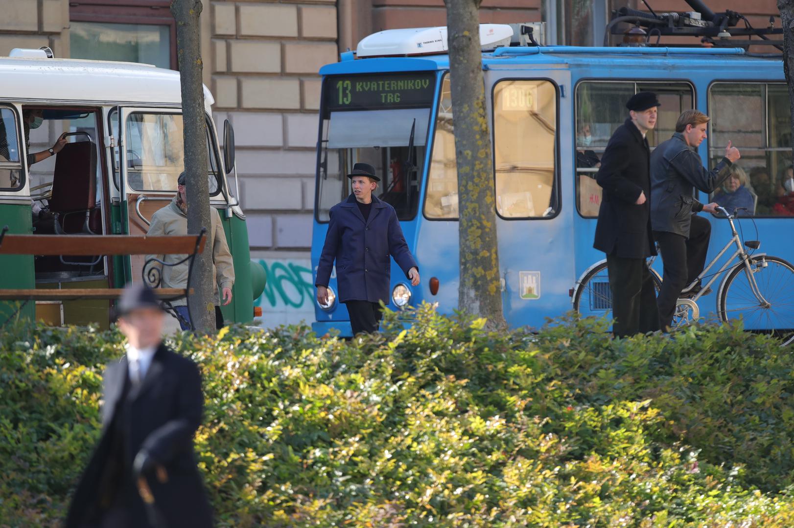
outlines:
[[[697, 301], [711, 291], [717, 278], [726, 274], [717, 290], [717, 316], [723, 322], [743, 319], [745, 329], [781, 339], [784, 346], [794, 342], [794, 266], [784, 258], [765, 253], [748, 253], [761, 247], [760, 240], [746, 240], [738, 235], [735, 216], [723, 207], [717, 210], [727, 217], [731, 238], [722, 251], [708, 263], [703, 272], [687, 285], [684, 292], [692, 290], [703, 280], [711, 277], [692, 297], [678, 299], [673, 317], [673, 327], [682, 327], [700, 318]], [[714, 274], [709, 275], [720, 258], [734, 245], [734, 254]], [[655, 257], [650, 258], [648, 266]], [[734, 264], [734, 261], [738, 262]], [[651, 269], [653, 281], [661, 287], [661, 277]], [[576, 282], [572, 295], [573, 309], [582, 316], [604, 316], [611, 311], [612, 296], [607, 275], [607, 261], [596, 262]]]

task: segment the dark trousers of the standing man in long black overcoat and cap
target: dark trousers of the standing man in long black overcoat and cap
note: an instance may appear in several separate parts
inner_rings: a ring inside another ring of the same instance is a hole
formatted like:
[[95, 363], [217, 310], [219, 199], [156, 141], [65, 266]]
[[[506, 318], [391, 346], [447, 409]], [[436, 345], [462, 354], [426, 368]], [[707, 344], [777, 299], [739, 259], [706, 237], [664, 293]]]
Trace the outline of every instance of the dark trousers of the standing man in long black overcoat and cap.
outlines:
[[625, 337], [658, 330], [656, 290], [645, 258], [607, 255], [612, 293], [612, 333]]

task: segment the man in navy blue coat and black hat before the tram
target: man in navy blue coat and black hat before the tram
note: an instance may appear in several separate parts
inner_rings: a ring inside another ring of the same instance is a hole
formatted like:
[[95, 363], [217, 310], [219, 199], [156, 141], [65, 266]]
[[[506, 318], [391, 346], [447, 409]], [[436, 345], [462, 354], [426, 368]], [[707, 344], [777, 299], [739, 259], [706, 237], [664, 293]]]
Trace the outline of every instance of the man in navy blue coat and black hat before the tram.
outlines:
[[380, 178], [368, 163], [356, 163], [353, 194], [330, 210], [326, 243], [317, 269], [317, 300], [328, 304], [328, 281], [337, 263], [339, 302], [350, 314], [353, 335], [374, 332], [380, 326], [380, 301], [389, 302], [391, 257], [402, 268], [411, 285], [419, 285], [419, 268], [410, 254], [395, 209], [372, 191]]

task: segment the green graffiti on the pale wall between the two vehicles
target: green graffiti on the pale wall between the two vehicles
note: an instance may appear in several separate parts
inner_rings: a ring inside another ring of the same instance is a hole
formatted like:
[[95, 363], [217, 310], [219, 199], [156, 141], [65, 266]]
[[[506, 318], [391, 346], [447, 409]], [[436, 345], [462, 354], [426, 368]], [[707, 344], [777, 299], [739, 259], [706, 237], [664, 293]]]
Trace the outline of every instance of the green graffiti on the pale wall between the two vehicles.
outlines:
[[265, 262], [259, 261], [267, 274], [268, 281], [264, 285], [264, 292], [254, 301], [255, 306], [264, 302], [274, 308], [276, 304], [284, 304], [290, 308], [301, 308], [306, 302], [314, 302], [314, 284], [309, 268], [299, 266], [295, 262]]

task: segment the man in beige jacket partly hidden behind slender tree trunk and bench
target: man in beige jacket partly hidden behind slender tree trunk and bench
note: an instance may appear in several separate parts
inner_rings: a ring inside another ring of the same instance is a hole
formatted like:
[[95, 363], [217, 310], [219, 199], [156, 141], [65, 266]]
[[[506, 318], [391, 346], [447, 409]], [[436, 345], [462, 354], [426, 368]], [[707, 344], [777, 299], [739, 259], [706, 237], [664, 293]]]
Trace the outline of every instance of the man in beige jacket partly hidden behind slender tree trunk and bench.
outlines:
[[[187, 235], [187, 194], [185, 193], [185, 173], [179, 174], [177, 180], [178, 193], [173, 201], [163, 209], [152, 215], [152, 225], [149, 226], [147, 235]], [[226, 234], [223, 231], [223, 224], [218, 210], [210, 207], [210, 220], [212, 227], [207, 239], [207, 246], [212, 248], [212, 276], [214, 278], [215, 321], [218, 328], [223, 327], [223, 316], [218, 301], [218, 290], [222, 295], [222, 302], [225, 306], [232, 302], [232, 286], [234, 285], [234, 265], [232, 254], [229, 253], [229, 246], [226, 244]], [[187, 255], [182, 254], [150, 254], [149, 258], [159, 258], [164, 262], [179, 262]], [[157, 265], [159, 266], [159, 265]], [[163, 280], [161, 288], [187, 288], [188, 262], [179, 266], [166, 266], [162, 270]], [[172, 305], [179, 315], [179, 326], [183, 330], [188, 330], [190, 323], [190, 313], [187, 311], [187, 300], [179, 299], [172, 302]]]

